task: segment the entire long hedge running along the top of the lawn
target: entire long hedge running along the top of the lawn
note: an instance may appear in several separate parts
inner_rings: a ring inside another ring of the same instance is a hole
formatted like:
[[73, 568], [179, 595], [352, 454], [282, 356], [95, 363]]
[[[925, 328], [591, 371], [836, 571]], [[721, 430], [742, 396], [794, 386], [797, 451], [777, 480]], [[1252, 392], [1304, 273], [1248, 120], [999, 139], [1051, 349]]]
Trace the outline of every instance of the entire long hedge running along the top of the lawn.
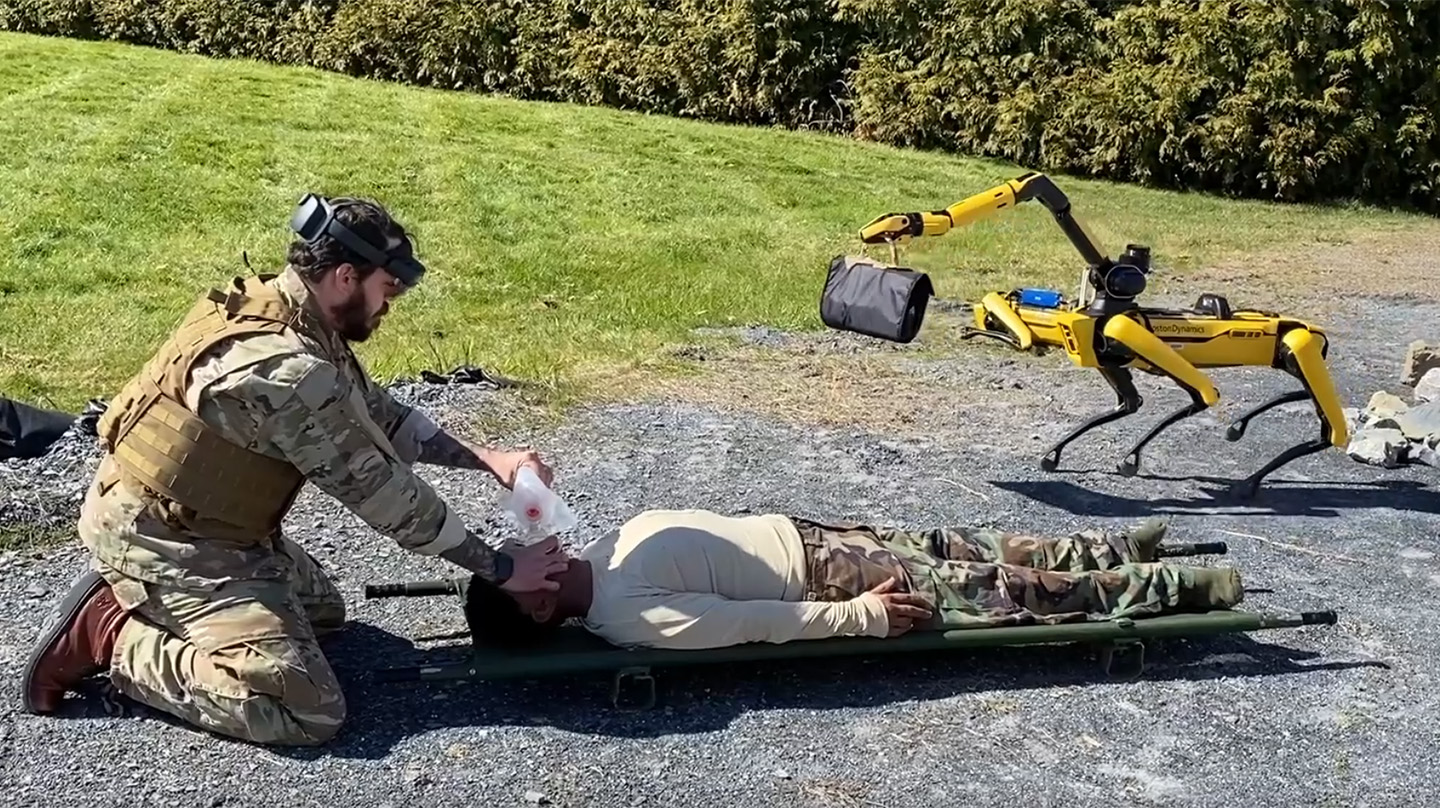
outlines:
[[0, 0], [0, 29], [1440, 212], [1433, 0]]

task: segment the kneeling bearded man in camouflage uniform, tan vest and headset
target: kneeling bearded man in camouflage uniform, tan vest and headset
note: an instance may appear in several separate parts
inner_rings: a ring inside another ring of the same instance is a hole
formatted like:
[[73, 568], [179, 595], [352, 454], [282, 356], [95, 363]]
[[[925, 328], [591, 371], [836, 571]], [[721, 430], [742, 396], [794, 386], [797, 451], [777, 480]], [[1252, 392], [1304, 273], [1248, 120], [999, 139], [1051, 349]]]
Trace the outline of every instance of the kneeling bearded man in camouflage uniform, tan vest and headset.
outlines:
[[281, 521], [305, 481], [406, 550], [511, 593], [554, 588], [556, 542], [497, 553], [415, 462], [510, 487], [533, 452], [458, 441], [376, 386], [351, 353], [425, 272], [369, 200], [307, 196], [278, 277], [200, 298], [109, 403], [79, 534], [92, 572], [63, 598], [24, 668], [27, 712], [86, 675], [194, 726], [315, 745], [346, 717], [317, 637], [344, 622], [336, 586]]

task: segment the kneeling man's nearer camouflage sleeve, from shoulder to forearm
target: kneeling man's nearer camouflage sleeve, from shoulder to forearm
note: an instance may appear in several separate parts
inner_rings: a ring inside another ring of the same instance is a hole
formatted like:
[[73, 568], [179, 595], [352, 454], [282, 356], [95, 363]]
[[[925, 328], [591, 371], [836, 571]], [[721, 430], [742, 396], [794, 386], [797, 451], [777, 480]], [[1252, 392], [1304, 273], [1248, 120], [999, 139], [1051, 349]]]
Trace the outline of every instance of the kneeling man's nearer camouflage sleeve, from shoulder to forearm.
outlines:
[[406, 550], [435, 556], [467, 540], [459, 516], [397, 457], [334, 364], [305, 354], [268, 360], [225, 395], [252, 410], [258, 448]]

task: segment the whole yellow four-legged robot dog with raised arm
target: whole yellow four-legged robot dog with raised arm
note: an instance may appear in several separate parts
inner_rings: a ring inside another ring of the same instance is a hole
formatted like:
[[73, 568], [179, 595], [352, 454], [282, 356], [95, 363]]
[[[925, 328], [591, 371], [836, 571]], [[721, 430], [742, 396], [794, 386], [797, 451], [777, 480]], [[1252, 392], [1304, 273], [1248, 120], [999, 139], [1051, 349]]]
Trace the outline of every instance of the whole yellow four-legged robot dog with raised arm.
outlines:
[[1200, 367], [1269, 366], [1295, 376], [1303, 386], [1237, 418], [1225, 431], [1230, 441], [1238, 441], [1250, 421], [1266, 410], [1305, 399], [1315, 402], [1320, 436], [1286, 449], [1246, 478], [1241, 482], [1246, 498], [1254, 497], [1261, 480], [1284, 464], [1346, 445], [1345, 415], [1325, 366], [1329, 341], [1323, 330], [1276, 313], [1231, 310], [1228, 301], [1215, 294], [1201, 295], [1194, 308], [1185, 310], [1139, 305], [1135, 298], [1145, 291], [1149, 248], [1126, 245], [1117, 259], [1107, 258], [1071, 216], [1066, 194], [1041, 173], [1021, 174], [945, 210], [878, 216], [860, 236], [865, 243], [888, 243], [891, 259], [897, 261], [897, 243], [916, 236], [939, 236], [1032, 199], [1050, 210], [1087, 264], [1080, 275], [1080, 295], [1067, 301], [1058, 292], [1032, 288], [986, 294], [973, 305], [975, 327], [965, 336], [994, 337], [1018, 350], [1037, 344], [1061, 347], [1077, 366], [1099, 369], [1119, 399], [1113, 409], [1061, 438], [1045, 454], [1041, 468], [1054, 471], [1060, 465], [1060, 451], [1071, 441], [1140, 409], [1143, 399], [1135, 389], [1132, 369], [1169, 377], [1189, 393], [1191, 403], [1168, 415], [1130, 448], [1119, 464], [1126, 477], [1139, 470], [1140, 449], [1161, 431], [1220, 400]]

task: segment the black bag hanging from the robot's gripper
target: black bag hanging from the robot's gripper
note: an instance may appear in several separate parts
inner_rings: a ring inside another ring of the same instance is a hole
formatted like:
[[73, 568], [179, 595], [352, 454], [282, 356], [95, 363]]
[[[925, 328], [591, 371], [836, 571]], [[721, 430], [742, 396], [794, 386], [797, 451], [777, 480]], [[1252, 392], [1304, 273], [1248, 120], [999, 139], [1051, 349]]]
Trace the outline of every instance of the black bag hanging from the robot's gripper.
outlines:
[[924, 272], [837, 255], [819, 297], [819, 318], [841, 331], [909, 343], [920, 333], [933, 294]]

